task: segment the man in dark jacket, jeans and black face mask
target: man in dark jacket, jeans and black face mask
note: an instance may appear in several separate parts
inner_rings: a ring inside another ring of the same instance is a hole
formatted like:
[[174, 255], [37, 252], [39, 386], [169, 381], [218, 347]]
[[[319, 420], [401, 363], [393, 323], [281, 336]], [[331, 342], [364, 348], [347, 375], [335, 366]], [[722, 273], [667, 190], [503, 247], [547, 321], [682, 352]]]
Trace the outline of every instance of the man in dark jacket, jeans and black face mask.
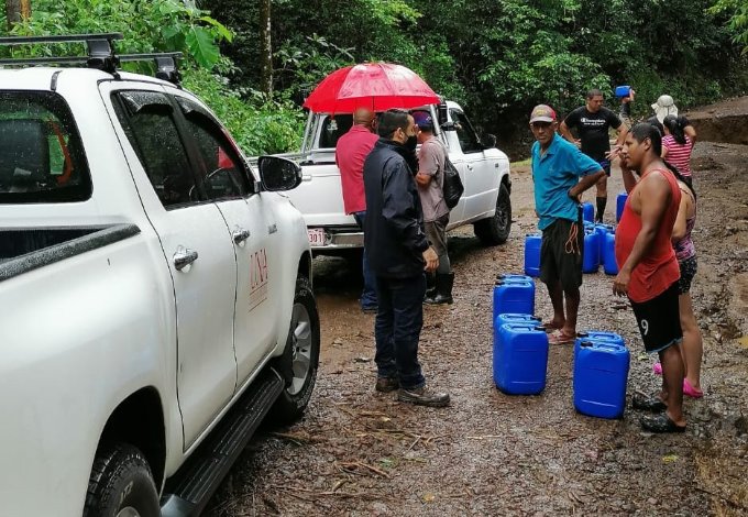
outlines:
[[439, 258], [424, 232], [414, 179], [416, 125], [407, 111], [388, 110], [380, 117], [377, 132], [381, 139], [364, 162], [364, 250], [376, 275], [378, 299], [376, 391], [399, 388], [402, 402], [442, 407], [449, 404], [449, 395], [426, 389], [418, 363], [424, 271], [435, 271]]

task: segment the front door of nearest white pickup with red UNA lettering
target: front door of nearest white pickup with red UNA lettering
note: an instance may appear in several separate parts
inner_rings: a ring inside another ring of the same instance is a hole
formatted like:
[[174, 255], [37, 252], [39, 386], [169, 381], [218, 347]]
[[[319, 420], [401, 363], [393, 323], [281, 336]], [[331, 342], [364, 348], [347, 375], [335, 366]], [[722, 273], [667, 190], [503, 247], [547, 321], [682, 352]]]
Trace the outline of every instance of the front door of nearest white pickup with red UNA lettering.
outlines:
[[276, 344], [273, 321], [278, 297], [271, 285], [279, 283], [271, 278], [277, 275], [278, 235], [273, 210], [262, 195], [253, 194], [251, 173], [213, 117], [186, 97], [176, 99], [197, 144], [207, 196], [226, 220], [237, 258], [234, 350], [241, 386]]

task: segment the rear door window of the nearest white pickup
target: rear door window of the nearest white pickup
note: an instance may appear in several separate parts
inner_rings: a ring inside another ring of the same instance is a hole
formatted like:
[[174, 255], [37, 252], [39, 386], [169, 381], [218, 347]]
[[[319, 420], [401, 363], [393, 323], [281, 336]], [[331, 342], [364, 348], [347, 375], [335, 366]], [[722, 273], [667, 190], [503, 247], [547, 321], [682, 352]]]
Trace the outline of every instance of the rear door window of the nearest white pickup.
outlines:
[[114, 95], [117, 117], [124, 129], [151, 185], [165, 208], [199, 201], [195, 176], [165, 95], [122, 91]]

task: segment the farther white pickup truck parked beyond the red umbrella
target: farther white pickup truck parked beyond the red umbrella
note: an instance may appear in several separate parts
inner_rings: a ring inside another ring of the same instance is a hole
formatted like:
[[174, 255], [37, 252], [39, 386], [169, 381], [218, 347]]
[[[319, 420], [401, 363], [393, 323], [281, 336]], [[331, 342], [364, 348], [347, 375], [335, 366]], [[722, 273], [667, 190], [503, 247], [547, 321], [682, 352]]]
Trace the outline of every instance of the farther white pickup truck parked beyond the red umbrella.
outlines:
[[[501, 244], [512, 227], [509, 160], [491, 142], [482, 142], [455, 102], [426, 106], [435, 120], [435, 134], [449, 151], [465, 191], [450, 211], [448, 230], [473, 224], [487, 245]], [[301, 163], [301, 185], [289, 193], [304, 213], [315, 253], [340, 254], [363, 246], [363, 233], [343, 209], [336, 143], [352, 124], [350, 114], [310, 113], [300, 154], [283, 155]]]

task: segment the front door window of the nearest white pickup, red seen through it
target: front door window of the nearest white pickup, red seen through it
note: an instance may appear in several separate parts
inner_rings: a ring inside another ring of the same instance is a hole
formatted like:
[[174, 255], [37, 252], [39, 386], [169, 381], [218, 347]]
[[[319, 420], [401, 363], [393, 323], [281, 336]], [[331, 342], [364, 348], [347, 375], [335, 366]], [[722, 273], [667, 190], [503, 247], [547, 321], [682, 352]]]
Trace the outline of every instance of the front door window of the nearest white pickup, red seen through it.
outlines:
[[198, 174], [209, 199], [244, 197], [251, 193], [242, 160], [228, 135], [199, 105], [177, 97], [187, 131], [199, 153]]

